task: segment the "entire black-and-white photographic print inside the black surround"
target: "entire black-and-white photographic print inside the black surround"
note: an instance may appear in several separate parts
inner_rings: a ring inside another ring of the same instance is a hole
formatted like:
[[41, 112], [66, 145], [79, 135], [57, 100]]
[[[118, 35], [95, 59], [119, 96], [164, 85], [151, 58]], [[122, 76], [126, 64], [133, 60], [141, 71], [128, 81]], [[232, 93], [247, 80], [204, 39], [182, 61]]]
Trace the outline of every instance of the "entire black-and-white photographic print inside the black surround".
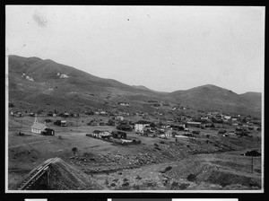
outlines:
[[5, 5], [6, 193], [263, 193], [265, 6]]

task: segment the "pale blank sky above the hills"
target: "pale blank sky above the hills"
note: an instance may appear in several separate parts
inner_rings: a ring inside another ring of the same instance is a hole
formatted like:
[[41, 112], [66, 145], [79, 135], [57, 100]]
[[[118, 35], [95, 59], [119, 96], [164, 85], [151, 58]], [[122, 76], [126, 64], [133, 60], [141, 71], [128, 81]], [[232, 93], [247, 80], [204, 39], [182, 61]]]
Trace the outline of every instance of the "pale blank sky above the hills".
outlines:
[[263, 92], [265, 7], [6, 6], [6, 55], [173, 92]]

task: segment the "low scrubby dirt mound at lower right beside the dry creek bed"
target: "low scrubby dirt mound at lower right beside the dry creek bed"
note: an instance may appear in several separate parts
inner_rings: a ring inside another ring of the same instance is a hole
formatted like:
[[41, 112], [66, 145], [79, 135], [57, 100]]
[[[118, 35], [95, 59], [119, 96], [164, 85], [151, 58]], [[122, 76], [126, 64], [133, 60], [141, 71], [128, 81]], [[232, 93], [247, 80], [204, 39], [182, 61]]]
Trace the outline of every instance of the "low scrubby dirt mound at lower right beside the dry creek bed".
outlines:
[[[218, 162], [212, 161], [218, 159]], [[189, 181], [189, 176], [194, 176], [192, 182], [195, 188], [203, 182], [220, 186], [222, 189], [260, 189], [261, 175], [258, 171], [250, 173], [249, 170], [240, 166], [247, 162], [247, 158], [240, 156], [199, 155], [189, 157], [178, 162], [178, 165], [165, 174], [170, 179]], [[237, 169], [234, 169], [234, 167]]]

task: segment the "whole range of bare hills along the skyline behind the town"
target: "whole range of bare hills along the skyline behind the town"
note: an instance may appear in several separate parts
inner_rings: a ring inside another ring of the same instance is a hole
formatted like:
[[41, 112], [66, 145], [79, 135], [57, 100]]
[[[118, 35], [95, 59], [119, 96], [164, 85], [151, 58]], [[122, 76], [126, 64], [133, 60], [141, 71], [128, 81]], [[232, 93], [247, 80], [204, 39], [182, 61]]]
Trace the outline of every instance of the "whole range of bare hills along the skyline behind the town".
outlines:
[[9, 102], [21, 109], [113, 109], [117, 101], [130, 101], [135, 109], [141, 110], [144, 101], [158, 100], [195, 109], [261, 116], [261, 93], [258, 92], [237, 94], [212, 84], [186, 91], [156, 92], [38, 57], [11, 55], [8, 67]]

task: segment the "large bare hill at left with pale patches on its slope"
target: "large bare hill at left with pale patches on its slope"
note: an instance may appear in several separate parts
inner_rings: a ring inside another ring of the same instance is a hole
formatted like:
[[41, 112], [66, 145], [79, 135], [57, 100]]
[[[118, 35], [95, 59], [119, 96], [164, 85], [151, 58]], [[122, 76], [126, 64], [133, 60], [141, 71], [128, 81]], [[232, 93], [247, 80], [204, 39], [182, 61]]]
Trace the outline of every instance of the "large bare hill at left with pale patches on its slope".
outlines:
[[104, 108], [103, 102], [107, 99], [114, 102], [133, 100], [133, 96], [139, 99], [137, 95], [143, 95], [143, 98], [161, 96], [151, 90], [103, 79], [49, 59], [9, 56], [9, 98], [16, 107], [19, 105], [19, 109], [82, 111], [86, 105]]

